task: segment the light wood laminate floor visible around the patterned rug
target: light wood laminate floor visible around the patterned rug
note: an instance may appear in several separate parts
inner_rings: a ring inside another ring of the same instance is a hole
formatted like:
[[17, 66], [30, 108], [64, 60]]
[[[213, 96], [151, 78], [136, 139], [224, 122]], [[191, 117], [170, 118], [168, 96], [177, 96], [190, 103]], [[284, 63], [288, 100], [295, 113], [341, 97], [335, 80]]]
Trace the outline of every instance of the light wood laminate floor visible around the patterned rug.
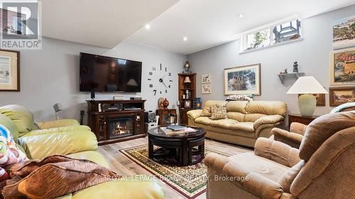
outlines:
[[[119, 142], [115, 144], [107, 144], [99, 146], [98, 152], [104, 155], [104, 157], [109, 161], [111, 169], [117, 174], [123, 176], [133, 176], [133, 175], [147, 175], [152, 176], [151, 173], [143, 169], [143, 167], [136, 164], [131, 159], [127, 158], [124, 154], [119, 152], [121, 149], [126, 149], [129, 147], [136, 147], [142, 144], [148, 144], [148, 137], [139, 138], [136, 140], [129, 140], [126, 142]], [[214, 140], [206, 139], [204, 142], [205, 146], [217, 149], [221, 152], [226, 152], [229, 154], [240, 154], [244, 152], [251, 152], [252, 149], [240, 147], [234, 144], [227, 144], [224, 142], [217, 142]], [[186, 197], [180, 194], [178, 191], [175, 191], [173, 188], [165, 184], [163, 181], [160, 181], [161, 186], [167, 199], [185, 199]], [[199, 195], [197, 199], [205, 199], [206, 193]]]

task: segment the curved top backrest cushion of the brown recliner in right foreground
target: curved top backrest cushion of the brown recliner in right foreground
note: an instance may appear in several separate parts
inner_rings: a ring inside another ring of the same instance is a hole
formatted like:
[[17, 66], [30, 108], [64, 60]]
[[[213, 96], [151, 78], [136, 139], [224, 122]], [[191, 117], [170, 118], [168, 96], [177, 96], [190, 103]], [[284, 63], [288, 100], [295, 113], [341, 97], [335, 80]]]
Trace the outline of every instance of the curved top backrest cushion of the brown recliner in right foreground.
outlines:
[[313, 120], [302, 139], [300, 158], [308, 161], [325, 140], [348, 127], [355, 127], [355, 110], [329, 113]]

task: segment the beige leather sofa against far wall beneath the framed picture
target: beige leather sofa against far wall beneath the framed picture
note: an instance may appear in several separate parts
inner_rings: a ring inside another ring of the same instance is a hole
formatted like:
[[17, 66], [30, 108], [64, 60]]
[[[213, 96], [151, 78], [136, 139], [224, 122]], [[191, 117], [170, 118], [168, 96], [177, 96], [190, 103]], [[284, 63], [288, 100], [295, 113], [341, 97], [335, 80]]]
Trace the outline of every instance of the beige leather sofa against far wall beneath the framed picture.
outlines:
[[258, 137], [270, 137], [273, 127], [284, 128], [287, 105], [280, 101], [206, 101], [204, 106], [226, 106], [228, 118], [201, 117], [202, 110], [187, 112], [188, 124], [203, 127], [206, 137], [254, 147]]

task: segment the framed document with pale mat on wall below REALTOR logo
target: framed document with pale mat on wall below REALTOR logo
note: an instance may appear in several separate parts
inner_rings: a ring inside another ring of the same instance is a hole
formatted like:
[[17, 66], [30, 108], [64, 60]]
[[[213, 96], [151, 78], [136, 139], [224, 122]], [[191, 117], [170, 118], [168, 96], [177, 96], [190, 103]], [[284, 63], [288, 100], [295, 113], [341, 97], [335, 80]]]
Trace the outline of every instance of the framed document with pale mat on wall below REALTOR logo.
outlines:
[[20, 91], [20, 52], [0, 50], [0, 91]]

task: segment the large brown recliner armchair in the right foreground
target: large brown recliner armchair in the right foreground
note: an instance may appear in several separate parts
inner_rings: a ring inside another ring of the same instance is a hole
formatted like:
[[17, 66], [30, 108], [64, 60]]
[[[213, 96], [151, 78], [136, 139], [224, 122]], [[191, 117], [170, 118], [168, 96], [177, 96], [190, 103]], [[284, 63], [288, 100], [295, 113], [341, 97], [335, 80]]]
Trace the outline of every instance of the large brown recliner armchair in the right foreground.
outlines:
[[307, 126], [300, 149], [259, 138], [255, 152], [207, 155], [207, 198], [355, 198], [355, 111]]

